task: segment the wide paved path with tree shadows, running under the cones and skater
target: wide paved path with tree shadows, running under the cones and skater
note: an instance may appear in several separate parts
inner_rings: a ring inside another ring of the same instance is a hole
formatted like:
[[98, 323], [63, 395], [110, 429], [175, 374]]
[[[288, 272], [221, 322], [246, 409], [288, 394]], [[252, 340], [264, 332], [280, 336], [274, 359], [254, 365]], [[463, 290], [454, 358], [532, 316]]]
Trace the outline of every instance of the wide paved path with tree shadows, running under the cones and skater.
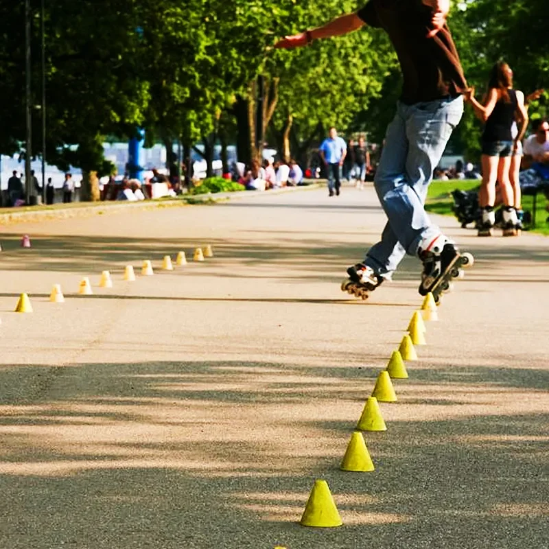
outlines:
[[[0, 548], [547, 546], [549, 240], [440, 221], [476, 267], [366, 435], [371, 474], [338, 465], [421, 303], [413, 258], [368, 303], [339, 290], [384, 224], [371, 189], [5, 229]], [[200, 244], [216, 257], [121, 281]], [[10, 312], [22, 291], [34, 314]], [[314, 478], [342, 528], [296, 524]]]

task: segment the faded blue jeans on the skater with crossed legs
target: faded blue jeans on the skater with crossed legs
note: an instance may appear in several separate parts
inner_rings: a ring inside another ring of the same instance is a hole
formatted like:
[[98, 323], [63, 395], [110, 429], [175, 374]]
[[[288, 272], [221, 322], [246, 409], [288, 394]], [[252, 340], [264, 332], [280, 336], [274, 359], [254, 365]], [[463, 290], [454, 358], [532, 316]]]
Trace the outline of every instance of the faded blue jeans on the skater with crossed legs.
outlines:
[[423, 240], [441, 230], [425, 213], [427, 189], [452, 130], [463, 115], [463, 97], [397, 104], [389, 124], [374, 187], [388, 222], [365, 264], [390, 279], [404, 255], [417, 255]]

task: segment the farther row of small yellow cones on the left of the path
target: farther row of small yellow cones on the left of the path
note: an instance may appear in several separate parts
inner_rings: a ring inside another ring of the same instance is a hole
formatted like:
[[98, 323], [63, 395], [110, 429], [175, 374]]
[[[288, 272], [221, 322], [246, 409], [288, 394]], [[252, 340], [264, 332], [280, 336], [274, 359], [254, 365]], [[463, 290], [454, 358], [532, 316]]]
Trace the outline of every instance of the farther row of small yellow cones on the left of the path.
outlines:
[[[204, 261], [205, 257], [213, 257], [213, 250], [211, 249], [211, 246], [205, 246], [205, 248], [196, 248], [194, 250], [193, 261]], [[178, 253], [176, 257], [176, 265], [187, 265], [187, 257], [185, 256], [185, 252]], [[172, 264], [172, 257], [170, 257], [170, 255], [165, 255], [163, 257], [162, 269], [174, 270], [174, 265]], [[141, 268], [141, 276], [151, 277], [153, 274], [154, 274], [154, 270], [152, 270], [152, 262], [149, 259], [143, 261], [143, 267]], [[132, 265], [128, 265], [124, 269], [124, 280], [129, 282], [135, 281], [135, 271]], [[101, 279], [100, 279], [99, 285], [100, 285], [100, 288], [113, 288], [113, 279], [110, 277], [110, 272], [108, 270], [104, 270], [101, 273]], [[80, 285], [78, 286], [78, 293], [80, 295], [88, 295], [88, 296], [93, 294], [93, 290], [91, 289], [90, 279], [88, 277], [84, 277], [80, 281]], [[63, 295], [60, 284], [54, 284], [54, 288], [52, 288], [51, 294], [49, 295], [49, 301], [53, 303], [63, 303], [65, 301], [65, 296]], [[19, 301], [17, 301], [15, 312], [16, 313], [32, 313], [33, 312], [32, 304], [30, 302], [28, 294], [21, 294], [21, 296], [19, 296]]]

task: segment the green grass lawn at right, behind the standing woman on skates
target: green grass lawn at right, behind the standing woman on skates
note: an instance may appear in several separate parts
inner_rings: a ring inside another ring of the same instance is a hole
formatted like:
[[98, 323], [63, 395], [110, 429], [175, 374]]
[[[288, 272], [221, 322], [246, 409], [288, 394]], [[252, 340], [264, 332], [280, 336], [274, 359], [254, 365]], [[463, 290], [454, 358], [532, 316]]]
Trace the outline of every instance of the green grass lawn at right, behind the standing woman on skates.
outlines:
[[[432, 213], [440, 213], [442, 215], [454, 215], [452, 212], [452, 205], [454, 200], [452, 199], [452, 191], [460, 189], [462, 191], [471, 191], [478, 188], [480, 181], [433, 181], [429, 187], [427, 195], [427, 203], [425, 209]], [[546, 211], [548, 201], [543, 194], [537, 195], [536, 206], [536, 226], [532, 229], [534, 233], [540, 233], [542, 235], [549, 235], [549, 223], [546, 223], [546, 218], [549, 213]], [[522, 208], [524, 211], [532, 211], [533, 197], [524, 196], [522, 199]]]

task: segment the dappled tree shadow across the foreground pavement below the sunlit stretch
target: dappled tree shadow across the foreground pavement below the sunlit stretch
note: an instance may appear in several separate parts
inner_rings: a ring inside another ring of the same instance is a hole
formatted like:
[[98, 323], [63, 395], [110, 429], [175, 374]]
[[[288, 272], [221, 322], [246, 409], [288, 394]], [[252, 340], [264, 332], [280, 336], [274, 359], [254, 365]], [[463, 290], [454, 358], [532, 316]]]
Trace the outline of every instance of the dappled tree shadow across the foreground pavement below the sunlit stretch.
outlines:
[[[387, 432], [366, 434], [376, 471], [352, 474], [338, 465], [373, 368], [3, 366], [0, 546], [544, 546], [546, 371], [438, 372], [436, 387], [419, 368], [398, 382]], [[314, 478], [343, 528], [296, 523]]]

